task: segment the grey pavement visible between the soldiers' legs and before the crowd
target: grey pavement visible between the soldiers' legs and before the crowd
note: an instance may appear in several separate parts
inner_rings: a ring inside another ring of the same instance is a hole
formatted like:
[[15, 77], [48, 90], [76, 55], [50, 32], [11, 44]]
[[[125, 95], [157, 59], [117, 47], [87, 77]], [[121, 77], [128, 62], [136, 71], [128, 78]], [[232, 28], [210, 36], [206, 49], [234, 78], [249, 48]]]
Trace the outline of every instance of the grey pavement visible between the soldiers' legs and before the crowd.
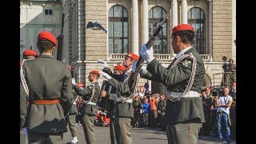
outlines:
[[[83, 136], [82, 126], [78, 126], [78, 143], [86, 144]], [[109, 127], [94, 127], [96, 134], [96, 142], [100, 144], [110, 144], [110, 129]], [[132, 128], [131, 131], [133, 144], [167, 144], [166, 131], [150, 128]], [[70, 131], [64, 133], [63, 144], [70, 142]], [[198, 144], [212, 144], [218, 141], [215, 136], [199, 136]], [[225, 143], [225, 142], [224, 142]], [[232, 144], [236, 140], [231, 140]]]

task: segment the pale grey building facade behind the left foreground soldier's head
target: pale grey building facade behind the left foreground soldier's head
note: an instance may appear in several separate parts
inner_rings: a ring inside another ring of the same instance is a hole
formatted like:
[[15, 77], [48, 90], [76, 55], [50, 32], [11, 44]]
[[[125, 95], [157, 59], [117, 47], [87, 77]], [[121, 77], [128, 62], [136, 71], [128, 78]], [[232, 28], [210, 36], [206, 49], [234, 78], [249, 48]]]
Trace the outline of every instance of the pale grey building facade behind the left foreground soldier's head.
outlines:
[[[61, 33], [61, 18], [62, 2], [58, 0], [20, 1], [20, 59], [30, 47], [38, 53], [36, 42], [42, 30], [50, 31], [57, 38]], [[54, 57], [56, 54], [54, 51]]]

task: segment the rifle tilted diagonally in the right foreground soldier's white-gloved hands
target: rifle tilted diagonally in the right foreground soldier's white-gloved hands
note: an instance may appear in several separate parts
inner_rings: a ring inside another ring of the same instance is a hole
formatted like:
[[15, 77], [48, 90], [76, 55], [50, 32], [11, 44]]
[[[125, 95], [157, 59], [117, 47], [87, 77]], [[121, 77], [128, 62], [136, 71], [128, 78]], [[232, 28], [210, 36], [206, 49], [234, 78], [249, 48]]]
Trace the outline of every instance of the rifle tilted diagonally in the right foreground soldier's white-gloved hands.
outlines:
[[[166, 18], [162, 19], [157, 29], [154, 31], [154, 34], [152, 34], [150, 39], [146, 42], [147, 50], [150, 50], [150, 47], [153, 46], [159, 32], [162, 30], [162, 27], [167, 22], [168, 18], [169, 18], [169, 14], [166, 14]], [[128, 85], [130, 89], [136, 86], [138, 73], [142, 69], [143, 62], [144, 62], [144, 59], [142, 58], [142, 55], [139, 55], [138, 62], [136, 64], [136, 70], [134, 73], [131, 72], [130, 78], [128, 79]]]

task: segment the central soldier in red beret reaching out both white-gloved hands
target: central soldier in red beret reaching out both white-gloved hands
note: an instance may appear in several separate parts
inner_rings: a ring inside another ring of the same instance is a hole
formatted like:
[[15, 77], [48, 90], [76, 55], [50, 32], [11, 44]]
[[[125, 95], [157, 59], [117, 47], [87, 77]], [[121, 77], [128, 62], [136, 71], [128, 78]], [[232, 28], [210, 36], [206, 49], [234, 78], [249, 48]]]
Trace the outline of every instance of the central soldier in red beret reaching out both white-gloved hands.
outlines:
[[104, 72], [100, 72], [100, 74], [108, 79], [111, 86], [118, 90], [117, 94], [109, 94], [109, 97], [115, 101], [115, 134], [118, 144], [132, 143], [130, 130], [131, 120], [134, 118], [134, 106], [132, 104], [134, 89], [130, 90], [127, 80], [136, 61], [138, 61], [137, 54], [127, 54], [122, 62], [122, 66], [126, 66], [126, 72], [122, 75], [117, 75], [111, 72], [106, 62], [98, 60], [104, 66], [102, 70]]

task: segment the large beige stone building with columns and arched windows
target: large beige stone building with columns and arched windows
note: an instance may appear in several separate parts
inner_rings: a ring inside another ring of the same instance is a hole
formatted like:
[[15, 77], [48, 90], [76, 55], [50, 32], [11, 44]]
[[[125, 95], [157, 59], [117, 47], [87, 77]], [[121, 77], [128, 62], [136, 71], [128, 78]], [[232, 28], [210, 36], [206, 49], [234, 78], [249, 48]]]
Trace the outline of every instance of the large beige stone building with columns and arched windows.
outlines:
[[[221, 84], [222, 56], [236, 62], [235, 0], [60, 0], [59, 3], [62, 14], [54, 22], [63, 21], [63, 27], [58, 25], [54, 34], [57, 37], [62, 28], [62, 61], [65, 59], [74, 66], [76, 82], [87, 83], [90, 70], [102, 70], [97, 59], [103, 59], [113, 68], [127, 52], [138, 54], [166, 14], [170, 18], [153, 46], [154, 57], [163, 66], [168, 66], [175, 56], [170, 45], [171, 28], [181, 23], [194, 26], [194, 47], [206, 64], [205, 86]], [[98, 22], [107, 32], [86, 27], [90, 22]], [[145, 82], [139, 78], [139, 85]], [[159, 83], [150, 83], [152, 91], [158, 92]]]

